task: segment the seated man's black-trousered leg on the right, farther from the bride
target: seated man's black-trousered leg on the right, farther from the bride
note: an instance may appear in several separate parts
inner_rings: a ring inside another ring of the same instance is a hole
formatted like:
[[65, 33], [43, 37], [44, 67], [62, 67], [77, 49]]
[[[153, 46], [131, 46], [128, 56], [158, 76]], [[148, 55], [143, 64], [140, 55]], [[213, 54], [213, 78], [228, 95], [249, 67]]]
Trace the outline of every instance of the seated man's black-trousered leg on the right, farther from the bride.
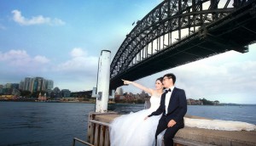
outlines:
[[173, 146], [173, 140], [177, 131], [184, 127], [183, 122], [176, 123], [174, 126], [168, 127], [164, 135], [165, 146]]

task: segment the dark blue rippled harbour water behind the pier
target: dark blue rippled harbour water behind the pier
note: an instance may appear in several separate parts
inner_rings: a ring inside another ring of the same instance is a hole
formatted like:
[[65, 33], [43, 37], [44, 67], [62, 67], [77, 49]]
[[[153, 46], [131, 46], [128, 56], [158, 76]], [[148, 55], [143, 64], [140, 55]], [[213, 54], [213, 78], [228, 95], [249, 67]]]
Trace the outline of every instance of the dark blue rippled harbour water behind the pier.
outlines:
[[[143, 110], [143, 104], [109, 104], [122, 114]], [[71, 145], [86, 139], [87, 118], [95, 104], [0, 102], [0, 145]], [[256, 105], [189, 105], [188, 114], [256, 124]], [[77, 144], [80, 145], [80, 144]]]

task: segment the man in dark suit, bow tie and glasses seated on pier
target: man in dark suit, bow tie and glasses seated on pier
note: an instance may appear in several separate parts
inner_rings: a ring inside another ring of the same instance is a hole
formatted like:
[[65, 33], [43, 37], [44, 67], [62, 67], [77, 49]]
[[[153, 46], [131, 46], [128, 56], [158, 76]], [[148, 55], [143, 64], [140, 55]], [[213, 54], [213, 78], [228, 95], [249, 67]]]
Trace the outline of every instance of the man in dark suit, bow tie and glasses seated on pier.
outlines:
[[164, 135], [165, 146], [172, 146], [176, 132], [184, 127], [183, 117], [187, 112], [187, 100], [183, 89], [174, 87], [176, 76], [166, 74], [163, 76], [163, 84], [166, 87], [166, 93], [161, 96], [160, 107], [151, 115], [162, 114], [155, 132], [155, 144], [157, 136], [166, 129]]

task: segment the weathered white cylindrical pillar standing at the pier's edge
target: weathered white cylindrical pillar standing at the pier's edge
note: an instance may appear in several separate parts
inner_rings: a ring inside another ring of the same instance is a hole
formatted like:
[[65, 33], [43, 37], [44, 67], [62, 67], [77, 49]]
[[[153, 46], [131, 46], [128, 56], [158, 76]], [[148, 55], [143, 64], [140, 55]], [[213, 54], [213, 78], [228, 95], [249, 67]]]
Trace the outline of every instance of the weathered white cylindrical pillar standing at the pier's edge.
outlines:
[[111, 52], [102, 50], [98, 63], [98, 76], [96, 87], [96, 112], [104, 113], [108, 111], [108, 95], [110, 81]]

